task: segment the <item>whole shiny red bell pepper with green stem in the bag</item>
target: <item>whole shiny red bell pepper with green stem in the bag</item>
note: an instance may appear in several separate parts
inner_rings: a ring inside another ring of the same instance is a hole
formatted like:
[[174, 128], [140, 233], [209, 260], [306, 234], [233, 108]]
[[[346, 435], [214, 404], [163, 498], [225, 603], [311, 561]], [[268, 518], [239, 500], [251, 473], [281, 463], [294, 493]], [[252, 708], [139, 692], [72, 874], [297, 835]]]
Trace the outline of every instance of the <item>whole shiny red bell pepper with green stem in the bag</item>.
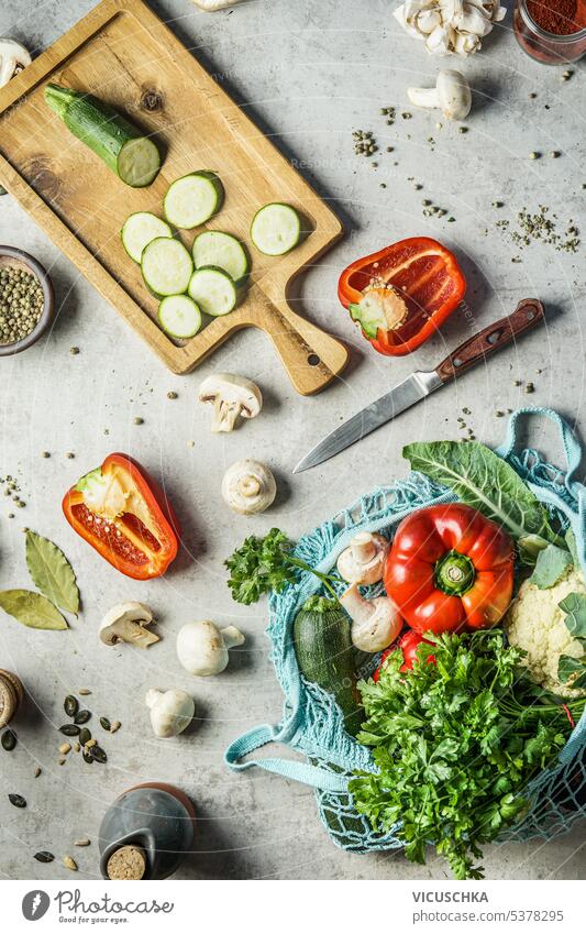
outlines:
[[402, 520], [385, 564], [385, 587], [418, 633], [494, 626], [509, 606], [515, 549], [496, 523], [453, 503]]

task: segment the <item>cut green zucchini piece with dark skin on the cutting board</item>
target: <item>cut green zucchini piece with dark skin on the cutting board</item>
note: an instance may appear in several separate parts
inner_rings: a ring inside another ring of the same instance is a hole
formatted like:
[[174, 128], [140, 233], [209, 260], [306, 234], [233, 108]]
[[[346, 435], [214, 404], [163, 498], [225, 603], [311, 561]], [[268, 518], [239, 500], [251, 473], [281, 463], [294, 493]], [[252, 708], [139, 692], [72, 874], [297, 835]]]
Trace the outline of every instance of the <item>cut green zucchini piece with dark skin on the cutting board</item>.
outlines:
[[144, 188], [154, 182], [161, 168], [158, 147], [113, 107], [53, 84], [45, 88], [45, 102], [125, 185]]

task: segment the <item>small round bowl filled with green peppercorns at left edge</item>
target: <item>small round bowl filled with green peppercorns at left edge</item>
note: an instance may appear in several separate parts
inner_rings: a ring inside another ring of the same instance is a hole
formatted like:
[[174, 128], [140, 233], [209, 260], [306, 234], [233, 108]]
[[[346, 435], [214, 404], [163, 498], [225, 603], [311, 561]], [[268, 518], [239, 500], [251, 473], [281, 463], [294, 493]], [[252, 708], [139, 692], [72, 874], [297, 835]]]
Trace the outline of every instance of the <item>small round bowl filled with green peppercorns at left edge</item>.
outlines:
[[0, 245], [0, 356], [26, 350], [46, 331], [55, 298], [47, 271], [16, 246]]

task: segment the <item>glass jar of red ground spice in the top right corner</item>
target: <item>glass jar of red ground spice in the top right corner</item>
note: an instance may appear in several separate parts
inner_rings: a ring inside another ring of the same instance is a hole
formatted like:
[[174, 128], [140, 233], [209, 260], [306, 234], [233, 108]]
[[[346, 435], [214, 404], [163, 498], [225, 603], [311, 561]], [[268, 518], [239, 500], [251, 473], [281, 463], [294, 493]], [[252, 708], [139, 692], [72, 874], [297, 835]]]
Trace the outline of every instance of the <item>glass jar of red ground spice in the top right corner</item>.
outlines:
[[544, 65], [577, 62], [586, 52], [586, 0], [517, 0], [515, 35]]

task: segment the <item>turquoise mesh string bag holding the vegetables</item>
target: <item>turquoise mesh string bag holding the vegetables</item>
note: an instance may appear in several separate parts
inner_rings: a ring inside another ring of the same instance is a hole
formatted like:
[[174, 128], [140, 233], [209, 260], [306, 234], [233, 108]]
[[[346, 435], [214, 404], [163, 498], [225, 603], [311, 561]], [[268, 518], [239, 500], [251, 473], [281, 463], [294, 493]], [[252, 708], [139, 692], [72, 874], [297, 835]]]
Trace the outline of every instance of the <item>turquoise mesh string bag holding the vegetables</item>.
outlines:
[[[532, 449], [516, 452], [517, 428], [521, 416], [544, 416], [557, 427], [566, 465], [561, 470], [543, 461]], [[509, 421], [505, 442], [496, 451], [526, 481], [548, 510], [564, 528], [572, 527], [583, 572], [586, 573], [586, 487], [578, 481], [582, 450], [572, 429], [550, 409], [522, 408]], [[379, 531], [392, 537], [398, 523], [413, 509], [455, 499], [445, 487], [418, 473], [390, 486], [363, 496], [334, 519], [301, 538], [295, 554], [319, 571], [330, 571], [350, 539], [361, 530]], [[269, 600], [267, 635], [270, 658], [285, 694], [283, 719], [276, 726], [257, 726], [235, 739], [225, 751], [231, 769], [258, 767], [316, 789], [318, 809], [324, 827], [335, 844], [354, 853], [402, 847], [396, 829], [382, 834], [372, 829], [358, 814], [347, 782], [355, 769], [375, 771], [371, 750], [361, 746], [344, 729], [340, 707], [331, 694], [306, 681], [299, 672], [291, 639], [292, 623], [308, 596], [319, 590], [319, 581], [300, 572], [298, 582]], [[377, 590], [371, 589], [372, 594]], [[369, 674], [378, 657], [364, 657], [360, 669]], [[368, 660], [366, 660], [368, 659]], [[280, 743], [302, 754], [307, 761], [259, 758], [241, 761], [261, 746]], [[586, 712], [574, 728], [557, 760], [529, 785], [531, 802], [523, 820], [504, 831], [499, 840], [550, 838], [570, 829], [586, 813]]]

